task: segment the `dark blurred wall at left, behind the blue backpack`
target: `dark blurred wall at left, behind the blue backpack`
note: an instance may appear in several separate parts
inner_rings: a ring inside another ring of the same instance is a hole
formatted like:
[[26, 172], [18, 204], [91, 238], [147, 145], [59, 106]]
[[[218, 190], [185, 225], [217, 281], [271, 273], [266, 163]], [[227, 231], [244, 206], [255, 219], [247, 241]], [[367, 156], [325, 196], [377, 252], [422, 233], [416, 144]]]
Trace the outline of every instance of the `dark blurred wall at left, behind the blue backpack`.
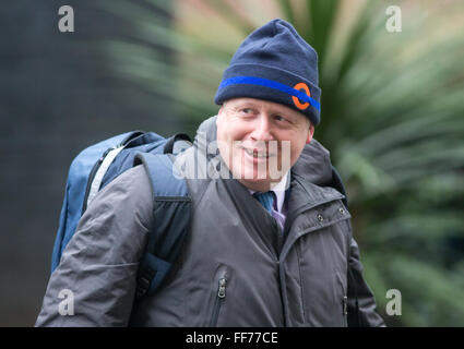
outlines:
[[[35, 323], [72, 158], [121, 132], [179, 131], [166, 101], [111, 74], [99, 43], [130, 39], [132, 27], [96, 2], [2, 2], [0, 326]], [[74, 33], [58, 29], [64, 4], [74, 9]], [[146, 98], [156, 111], [139, 103]]]

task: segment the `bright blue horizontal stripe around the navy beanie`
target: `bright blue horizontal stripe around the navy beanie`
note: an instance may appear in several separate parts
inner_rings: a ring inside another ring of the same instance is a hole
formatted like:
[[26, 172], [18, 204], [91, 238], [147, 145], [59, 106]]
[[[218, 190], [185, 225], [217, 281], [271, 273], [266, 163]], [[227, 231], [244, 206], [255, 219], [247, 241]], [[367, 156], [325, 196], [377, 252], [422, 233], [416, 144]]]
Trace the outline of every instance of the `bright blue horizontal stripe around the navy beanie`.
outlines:
[[265, 86], [265, 87], [278, 89], [283, 93], [286, 93], [287, 95], [297, 97], [299, 100], [309, 103], [316, 109], [321, 111], [321, 105], [319, 104], [319, 101], [311, 98], [306, 93], [298, 91], [296, 88], [289, 87], [287, 85], [277, 83], [276, 81], [273, 81], [273, 80], [255, 77], [255, 76], [234, 76], [234, 77], [224, 80], [221, 83], [218, 89], [224, 88], [228, 85], [236, 85], [236, 84], [259, 85], [259, 86]]

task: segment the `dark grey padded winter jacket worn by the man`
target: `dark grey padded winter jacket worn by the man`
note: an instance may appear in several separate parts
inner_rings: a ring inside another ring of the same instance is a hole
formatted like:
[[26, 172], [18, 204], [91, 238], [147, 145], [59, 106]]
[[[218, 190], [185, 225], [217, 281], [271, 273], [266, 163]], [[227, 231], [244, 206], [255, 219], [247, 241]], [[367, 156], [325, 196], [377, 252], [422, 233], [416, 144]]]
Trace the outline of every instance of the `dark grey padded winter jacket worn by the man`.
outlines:
[[[211, 118], [199, 134], [211, 141], [215, 130]], [[186, 152], [187, 166], [205, 146], [195, 142]], [[144, 168], [128, 170], [81, 218], [36, 326], [383, 326], [343, 195], [325, 186], [329, 152], [313, 140], [290, 173], [284, 231], [238, 181], [189, 179], [192, 219], [181, 255], [163, 287], [134, 303], [139, 261], [156, 222]], [[59, 298], [63, 289], [73, 299]], [[63, 301], [72, 301], [73, 314], [60, 313]]]

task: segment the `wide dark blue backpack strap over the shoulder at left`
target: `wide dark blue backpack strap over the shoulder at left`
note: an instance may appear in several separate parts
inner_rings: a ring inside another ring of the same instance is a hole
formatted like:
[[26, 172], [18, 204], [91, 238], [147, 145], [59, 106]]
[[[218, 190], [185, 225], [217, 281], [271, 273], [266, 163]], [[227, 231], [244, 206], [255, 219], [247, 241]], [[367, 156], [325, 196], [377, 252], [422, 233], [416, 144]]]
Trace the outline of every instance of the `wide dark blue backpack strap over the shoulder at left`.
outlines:
[[140, 164], [152, 184], [154, 224], [139, 266], [135, 300], [156, 291], [168, 275], [180, 254], [191, 213], [187, 183], [174, 176], [169, 154], [138, 153], [134, 166]]

